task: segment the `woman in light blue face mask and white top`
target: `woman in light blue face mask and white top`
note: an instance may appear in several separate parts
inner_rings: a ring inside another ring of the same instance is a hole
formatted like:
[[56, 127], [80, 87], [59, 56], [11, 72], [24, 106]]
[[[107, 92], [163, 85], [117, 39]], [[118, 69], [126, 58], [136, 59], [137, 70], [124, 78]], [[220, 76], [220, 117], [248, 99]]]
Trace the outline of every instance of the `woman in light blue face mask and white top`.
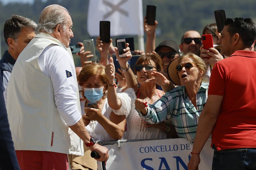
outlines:
[[[107, 70], [108, 71], [108, 70]], [[125, 127], [124, 110], [128, 110], [125, 103], [127, 94], [119, 94], [110, 97], [109, 100], [120, 101], [117, 110], [111, 109], [108, 105], [107, 89], [113, 88], [110, 81], [113, 78], [105, 74], [105, 66], [92, 63], [85, 65], [81, 70], [78, 81], [84, 91], [84, 101], [81, 101], [82, 118], [86, 130], [96, 141], [98, 140], [117, 140], [123, 138]], [[113, 81], [113, 80], [112, 80]], [[126, 95], [126, 96], [125, 96]], [[89, 104], [88, 104], [89, 103]], [[96, 109], [87, 107], [96, 104]], [[129, 106], [128, 106], [129, 107]], [[84, 145], [84, 156], [71, 156], [72, 169], [97, 169], [96, 161], [90, 158], [90, 150]]]

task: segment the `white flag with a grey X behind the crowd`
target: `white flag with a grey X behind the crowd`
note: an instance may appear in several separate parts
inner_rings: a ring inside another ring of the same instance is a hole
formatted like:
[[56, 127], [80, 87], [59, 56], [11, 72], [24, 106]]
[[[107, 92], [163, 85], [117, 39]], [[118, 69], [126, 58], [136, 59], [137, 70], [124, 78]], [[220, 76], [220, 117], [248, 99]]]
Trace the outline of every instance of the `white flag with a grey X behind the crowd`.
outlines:
[[144, 35], [142, 0], [90, 0], [87, 30], [100, 35], [100, 21], [110, 21], [110, 36]]

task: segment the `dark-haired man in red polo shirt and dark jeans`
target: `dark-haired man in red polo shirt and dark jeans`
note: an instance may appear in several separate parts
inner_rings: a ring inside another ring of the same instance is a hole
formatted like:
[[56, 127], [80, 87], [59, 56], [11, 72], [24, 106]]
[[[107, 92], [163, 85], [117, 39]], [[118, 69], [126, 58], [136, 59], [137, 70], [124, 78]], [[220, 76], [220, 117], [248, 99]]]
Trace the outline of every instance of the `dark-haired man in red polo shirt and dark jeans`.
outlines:
[[256, 38], [250, 18], [227, 18], [220, 53], [210, 78], [208, 99], [199, 117], [188, 169], [198, 168], [200, 152], [212, 133], [212, 169], [256, 169]]

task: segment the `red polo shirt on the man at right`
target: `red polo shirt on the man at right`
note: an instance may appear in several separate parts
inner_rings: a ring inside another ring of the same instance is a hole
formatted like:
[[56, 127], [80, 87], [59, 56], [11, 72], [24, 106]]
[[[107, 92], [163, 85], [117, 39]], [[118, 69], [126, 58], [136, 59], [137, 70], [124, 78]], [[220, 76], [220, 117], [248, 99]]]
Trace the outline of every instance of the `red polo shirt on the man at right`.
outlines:
[[223, 96], [212, 130], [217, 150], [256, 148], [256, 52], [236, 51], [217, 62], [208, 95]]

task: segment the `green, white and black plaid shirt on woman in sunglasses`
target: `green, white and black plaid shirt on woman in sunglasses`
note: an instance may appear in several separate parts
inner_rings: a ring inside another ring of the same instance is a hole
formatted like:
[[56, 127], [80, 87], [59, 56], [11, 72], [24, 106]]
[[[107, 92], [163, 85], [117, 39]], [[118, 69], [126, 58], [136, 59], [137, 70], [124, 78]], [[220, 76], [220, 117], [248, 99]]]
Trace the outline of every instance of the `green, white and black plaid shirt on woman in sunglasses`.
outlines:
[[178, 86], [167, 91], [154, 104], [148, 104], [146, 116], [139, 115], [151, 124], [172, 119], [180, 138], [194, 139], [199, 115], [203, 110], [208, 95], [209, 83], [202, 82], [196, 94], [196, 108], [186, 94], [185, 86]]

